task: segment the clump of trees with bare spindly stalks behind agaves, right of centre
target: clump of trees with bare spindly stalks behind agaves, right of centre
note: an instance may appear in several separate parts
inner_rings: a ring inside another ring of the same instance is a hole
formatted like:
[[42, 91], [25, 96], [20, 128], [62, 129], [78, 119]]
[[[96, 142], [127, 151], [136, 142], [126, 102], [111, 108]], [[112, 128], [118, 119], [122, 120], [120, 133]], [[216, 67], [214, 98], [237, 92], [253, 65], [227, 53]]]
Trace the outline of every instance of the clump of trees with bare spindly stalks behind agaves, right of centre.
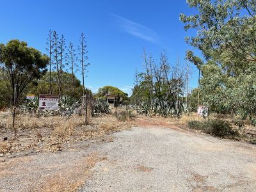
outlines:
[[159, 63], [156, 63], [152, 54], [144, 49], [143, 72], [135, 71], [131, 103], [144, 103], [153, 109], [157, 102], [164, 101], [175, 109], [175, 113], [181, 113], [188, 102], [188, 70], [180, 60], [171, 65], [165, 51], [161, 52]]

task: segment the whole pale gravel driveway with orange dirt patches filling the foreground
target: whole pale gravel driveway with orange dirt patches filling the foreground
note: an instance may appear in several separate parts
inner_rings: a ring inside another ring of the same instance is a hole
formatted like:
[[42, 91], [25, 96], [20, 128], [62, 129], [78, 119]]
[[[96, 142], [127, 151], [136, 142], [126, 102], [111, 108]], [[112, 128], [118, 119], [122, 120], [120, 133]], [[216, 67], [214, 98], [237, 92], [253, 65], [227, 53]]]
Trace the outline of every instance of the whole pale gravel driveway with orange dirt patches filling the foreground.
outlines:
[[0, 161], [0, 191], [255, 191], [256, 146], [161, 127]]

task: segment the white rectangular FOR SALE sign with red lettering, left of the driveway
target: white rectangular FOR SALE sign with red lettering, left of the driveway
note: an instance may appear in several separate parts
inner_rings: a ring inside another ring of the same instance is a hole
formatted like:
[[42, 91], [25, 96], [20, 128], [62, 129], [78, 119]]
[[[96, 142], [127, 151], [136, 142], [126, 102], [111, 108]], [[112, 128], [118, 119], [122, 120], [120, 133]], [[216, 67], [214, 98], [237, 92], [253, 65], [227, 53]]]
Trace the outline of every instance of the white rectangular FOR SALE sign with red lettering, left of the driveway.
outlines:
[[59, 95], [39, 95], [39, 110], [58, 110]]

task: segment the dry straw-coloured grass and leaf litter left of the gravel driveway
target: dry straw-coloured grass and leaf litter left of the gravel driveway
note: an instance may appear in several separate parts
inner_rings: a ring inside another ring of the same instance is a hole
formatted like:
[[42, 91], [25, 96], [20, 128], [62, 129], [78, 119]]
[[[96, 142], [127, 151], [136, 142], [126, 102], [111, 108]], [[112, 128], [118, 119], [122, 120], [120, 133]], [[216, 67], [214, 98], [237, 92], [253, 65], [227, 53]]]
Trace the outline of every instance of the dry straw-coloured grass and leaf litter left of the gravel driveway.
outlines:
[[[48, 116], [36, 118], [17, 116], [18, 138], [13, 138], [12, 116], [0, 114], [0, 156], [13, 152], [56, 152], [63, 143], [99, 138], [111, 132], [121, 131], [134, 122], [118, 122], [115, 116], [98, 116], [84, 125], [84, 116]], [[3, 138], [7, 137], [7, 141]]]

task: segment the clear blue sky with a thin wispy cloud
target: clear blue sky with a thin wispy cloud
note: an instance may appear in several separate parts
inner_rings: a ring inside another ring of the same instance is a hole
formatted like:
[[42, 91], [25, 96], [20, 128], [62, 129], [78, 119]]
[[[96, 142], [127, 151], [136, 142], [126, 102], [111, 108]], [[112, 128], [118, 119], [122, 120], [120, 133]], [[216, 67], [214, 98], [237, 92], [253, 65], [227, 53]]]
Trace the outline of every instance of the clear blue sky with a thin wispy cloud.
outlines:
[[[156, 61], [166, 50], [172, 64], [178, 58], [184, 63], [188, 49], [197, 52], [184, 42], [191, 32], [184, 31], [179, 14], [193, 13], [185, 0], [5, 0], [0, 7], [1, 43], [17, 38], [45, 53], [49, 29], [76, 46], [85, 33], [91, 63], [85, 84], [93, 92], [105, 85], [131, 92], [135, 68], [143, 70], [143, 47]], [[198, 76], [191, 67], [193, 88]]]

